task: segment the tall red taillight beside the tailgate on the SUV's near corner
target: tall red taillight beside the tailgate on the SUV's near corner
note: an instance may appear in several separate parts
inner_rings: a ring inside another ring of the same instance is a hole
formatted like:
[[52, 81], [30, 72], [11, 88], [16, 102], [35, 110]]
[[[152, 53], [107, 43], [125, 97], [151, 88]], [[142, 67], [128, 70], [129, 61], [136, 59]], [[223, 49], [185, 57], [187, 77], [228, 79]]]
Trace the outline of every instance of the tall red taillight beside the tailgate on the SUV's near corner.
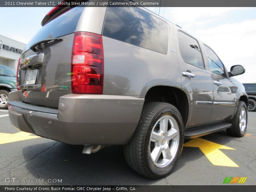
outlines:
[[76, 32], [71, 66], [73, 93], [102, 94], [104, 74], [102, 36]]

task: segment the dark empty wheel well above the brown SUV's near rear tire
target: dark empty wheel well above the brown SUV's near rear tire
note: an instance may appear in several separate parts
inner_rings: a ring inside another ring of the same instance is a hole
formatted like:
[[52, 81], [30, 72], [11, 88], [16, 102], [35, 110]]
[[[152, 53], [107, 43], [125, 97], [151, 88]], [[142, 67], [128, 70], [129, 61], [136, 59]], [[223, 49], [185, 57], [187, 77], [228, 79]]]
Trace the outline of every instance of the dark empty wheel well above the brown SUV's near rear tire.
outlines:
[[145, 95], [144, 104], [152, 101], [166, 102], [176, 107], [184, 125], [188, 120], [188, 98], [184, 91], [177, 87], [158, 85], [151, 87]]

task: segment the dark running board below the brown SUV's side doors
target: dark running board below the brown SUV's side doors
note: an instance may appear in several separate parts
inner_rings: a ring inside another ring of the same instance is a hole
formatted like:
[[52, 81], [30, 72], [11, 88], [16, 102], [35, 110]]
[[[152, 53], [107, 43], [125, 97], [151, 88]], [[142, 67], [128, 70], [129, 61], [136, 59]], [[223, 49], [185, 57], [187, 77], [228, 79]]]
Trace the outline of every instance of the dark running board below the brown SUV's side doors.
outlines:
[[220, 130], [231, 127], [231, 125], [231, 123], [219, 123], [186, 129], [184, 133], [185, 139], [193, 139], [196, 137], [208, 135], [210, 133], [218, 132]]

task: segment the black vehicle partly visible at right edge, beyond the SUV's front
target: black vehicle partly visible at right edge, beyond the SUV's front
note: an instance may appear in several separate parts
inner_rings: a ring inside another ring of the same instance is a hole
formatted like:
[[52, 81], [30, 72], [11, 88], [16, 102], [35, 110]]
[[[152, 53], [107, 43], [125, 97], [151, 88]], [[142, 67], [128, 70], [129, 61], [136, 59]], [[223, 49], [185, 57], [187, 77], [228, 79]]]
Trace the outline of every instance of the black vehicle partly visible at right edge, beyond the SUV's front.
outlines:
[[248, 111], [256, 109], [256, 83], [244, 83], [245, 91], [248, 95]]

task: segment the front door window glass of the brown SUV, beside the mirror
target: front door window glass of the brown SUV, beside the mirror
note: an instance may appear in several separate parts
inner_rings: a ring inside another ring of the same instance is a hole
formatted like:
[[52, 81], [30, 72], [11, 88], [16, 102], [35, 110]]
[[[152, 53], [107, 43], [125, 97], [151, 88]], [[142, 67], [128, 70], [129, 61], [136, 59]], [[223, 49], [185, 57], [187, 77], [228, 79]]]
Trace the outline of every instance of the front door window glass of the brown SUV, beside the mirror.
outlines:
[[210, 70], [218, 75], [226, 76], [223, 63], [220, 61], [219, 57], [208, 46], [204, 45], [204, 49]]

